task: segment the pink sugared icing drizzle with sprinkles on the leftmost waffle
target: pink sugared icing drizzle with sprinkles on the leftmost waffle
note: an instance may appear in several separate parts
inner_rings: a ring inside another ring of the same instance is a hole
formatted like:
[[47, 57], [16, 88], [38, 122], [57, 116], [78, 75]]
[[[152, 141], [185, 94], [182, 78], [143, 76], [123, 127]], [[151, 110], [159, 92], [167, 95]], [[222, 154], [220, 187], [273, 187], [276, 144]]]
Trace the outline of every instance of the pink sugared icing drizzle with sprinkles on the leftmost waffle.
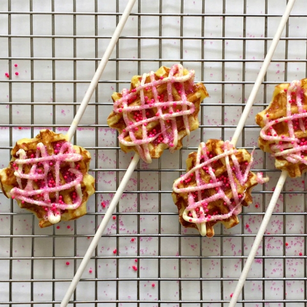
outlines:
[[[10, 192], [12, 198], [21, 203], [27, 202], [44, 207], [47, 218], [52, 224], [60, 221], [61, 210], [76, 209], [80, 206], [83, 179], [78, 169], [79, 165], [75, 165], [75, 162], [80, 161], [82, 156], [75, 152], [70, 142], [56, 143], [54, 151], [54, 155], [49, 155], [45, 145], [38, 143], [35, 155], [33, 153], [27, 157], [26, 151], [19, 149], [16, 153], [19, 158], [13, 162], [14, 175], [19, 187], [12, 188]], [[62, 162], [67, 162], [69, 165], [64, 173], [61, 170]], [[26, 165], [30, 166], [27, 173], [24, 172]], [[27, 180], [24, 188], [23, 180]], [[61, 180], [64, 180], [65, 183], [62, 184]], [[65, 204], [59, 192], [71, 188], [75, 188], [71, 193], [73, 204]]]

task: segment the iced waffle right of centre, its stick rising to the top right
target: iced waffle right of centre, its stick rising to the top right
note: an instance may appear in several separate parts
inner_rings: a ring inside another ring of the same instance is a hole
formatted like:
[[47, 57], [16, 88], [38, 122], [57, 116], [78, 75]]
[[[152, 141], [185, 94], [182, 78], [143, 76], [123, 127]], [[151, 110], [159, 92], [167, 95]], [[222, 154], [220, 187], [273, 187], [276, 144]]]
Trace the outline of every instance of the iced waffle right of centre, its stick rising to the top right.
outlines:
[[252, 188], [267, 181], [250, 171], [252, 161], [246, 149], [236, 149], [229, 141], [201, 143], [186, 160], [187, 173], [173, 184], [180, 223], [208, 237], [218, 222], [226, 228], [237, 225], [242, 206], [252, 203]]

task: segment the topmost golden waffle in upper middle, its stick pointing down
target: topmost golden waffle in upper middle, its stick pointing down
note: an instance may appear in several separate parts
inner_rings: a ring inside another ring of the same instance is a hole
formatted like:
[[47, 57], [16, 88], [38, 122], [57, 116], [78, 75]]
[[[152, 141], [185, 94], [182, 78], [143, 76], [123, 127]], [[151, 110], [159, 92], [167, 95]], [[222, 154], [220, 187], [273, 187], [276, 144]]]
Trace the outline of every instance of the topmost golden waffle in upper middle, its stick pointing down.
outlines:
[[[182, 147], [182, 139], [199, 127], [201, 101], [208, 97], [202, 83], [193, 83], [194, 71], [180, 64], [134, 76], [130, 90], [114, 93], [114, 111], [107, 123], [119, 131], [124, 152], [135, 150], [151, 162], [164, 149]], [[178, 134], [178, 135], [177, 135]]]

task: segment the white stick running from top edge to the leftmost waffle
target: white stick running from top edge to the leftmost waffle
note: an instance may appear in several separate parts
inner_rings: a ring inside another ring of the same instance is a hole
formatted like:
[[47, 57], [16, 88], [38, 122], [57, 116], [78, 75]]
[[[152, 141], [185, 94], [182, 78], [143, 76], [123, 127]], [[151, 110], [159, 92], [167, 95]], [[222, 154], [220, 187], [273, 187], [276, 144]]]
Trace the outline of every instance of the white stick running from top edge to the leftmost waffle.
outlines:
[[120, 21], [119, 21], [119, 23], [118, 23], [118, 25], [117, 25], [114, 33], [113, 33], [113, 36], [112, 36], [110, 42], [108, 43], [108, 46], [107, 46], [107, 48], [106, 48], [106, 50], [103, 54], [103, 57], [102, 57], [102, 59], [99, 63], [99, 66], [98, 66], [98, 68], [97, 68], [97, 70], [96, 70], [96, 72], [93, 76], [93, 79], [92, 79], [92, 81], [89, 85], [89, 88], [87, 89], [87, 91], [86, 91], [86, 93], [83, 97], [83, 100], [82, 100], [82, 102], [81, 102], [81, 104], [78, 108], [78, 111], [75, 115], [75, 118], [74, 118], [68, 132], [67, 132], [67, 139], [68, 139], [69, 142], [72, 140], [73, 135], [76, 132], [77, 126], [78, 126], [78, 124], [79, 124], [79, 122], [82, 118], [82, 115], [85, 111], [85, 108], [86, 108], [87, 104], [89, 104], [89, 101], [90, 101], [90, 99], [91, 99], [91, 97], [92, 97], [92, 95], [93, 95], [93, 93], [96, 89], [98, 81], [99, 81], [99, 79], [100, 79], [100, 77], [101, 77], [101, 75], [102, 75], [102, 73], [105, 69], [105, 66], [106, 66], [106, 64], [109, 60], [109, 57], [111, 56], [111, 53], [112, 53], [112, 51], [113, 51], [113, 49], [114, 49], [114, 47], [115, 47], [115, 45], [118, 41], [119, 35], [120, 35], [120, 33], [122, 32], [122, 30], [125, 26], [125, 23], [126, 23], [129, 15], [130, 15], [130, 12], [131, 12], [135, 2], [136, 2], [136, 0], [129, 0], [129, 2], [128, 2], [127, 6], [126, 6], [126, 8], [125, 8], [125, 10], [122, 14], [122, 17], [120, 18]]

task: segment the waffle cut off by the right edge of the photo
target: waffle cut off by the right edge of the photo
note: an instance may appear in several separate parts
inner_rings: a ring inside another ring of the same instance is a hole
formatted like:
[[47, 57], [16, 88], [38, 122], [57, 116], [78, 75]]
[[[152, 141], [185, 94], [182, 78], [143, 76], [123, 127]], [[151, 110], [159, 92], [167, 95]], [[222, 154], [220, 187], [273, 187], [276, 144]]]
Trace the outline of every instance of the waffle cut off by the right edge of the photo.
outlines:
[[256, 115], [259, 147], [272, 153], [275, 167], [299, 177], [307, 170], [307, 79], [275, 86], [273, 98]]

